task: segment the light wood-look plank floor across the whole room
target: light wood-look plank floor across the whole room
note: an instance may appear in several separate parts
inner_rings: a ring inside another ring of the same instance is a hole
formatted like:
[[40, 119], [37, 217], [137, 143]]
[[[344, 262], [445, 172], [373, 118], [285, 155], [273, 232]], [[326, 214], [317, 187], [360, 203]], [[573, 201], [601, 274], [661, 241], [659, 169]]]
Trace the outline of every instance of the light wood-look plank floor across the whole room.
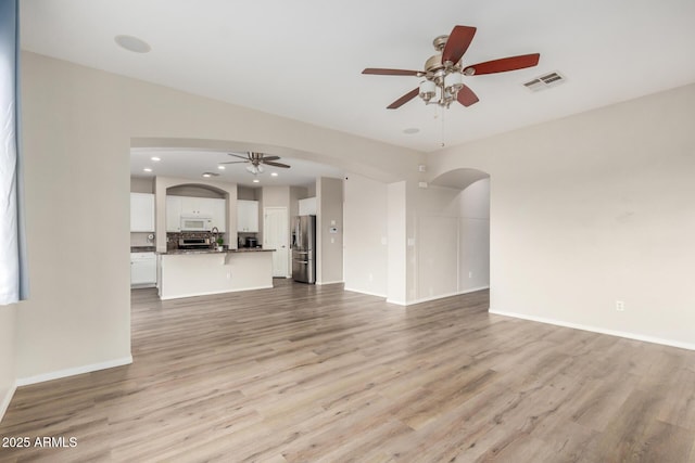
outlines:
[[161, 303], [128, 366], [20, 388], [0, 461], [694, 462], [695, 352], [340, 285]]

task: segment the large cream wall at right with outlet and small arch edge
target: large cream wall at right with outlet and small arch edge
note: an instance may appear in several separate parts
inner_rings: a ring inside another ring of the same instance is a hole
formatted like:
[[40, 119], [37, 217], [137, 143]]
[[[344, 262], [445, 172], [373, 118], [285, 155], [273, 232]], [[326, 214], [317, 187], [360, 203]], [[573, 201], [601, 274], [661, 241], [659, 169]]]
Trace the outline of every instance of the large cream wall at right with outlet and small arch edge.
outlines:
[[695, 348], [693, 120], [695, 85], [430, 156], [491, 176], [491, 311]]

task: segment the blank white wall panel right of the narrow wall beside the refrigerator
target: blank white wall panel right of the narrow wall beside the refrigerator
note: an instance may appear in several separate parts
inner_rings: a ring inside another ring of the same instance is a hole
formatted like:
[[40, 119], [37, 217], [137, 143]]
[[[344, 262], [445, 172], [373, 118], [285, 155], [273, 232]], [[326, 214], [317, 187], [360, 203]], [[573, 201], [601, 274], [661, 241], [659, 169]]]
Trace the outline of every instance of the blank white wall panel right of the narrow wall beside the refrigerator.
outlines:
[[345, 290], [388, 296], [388, 185], [356, 173], [345, 180]]

